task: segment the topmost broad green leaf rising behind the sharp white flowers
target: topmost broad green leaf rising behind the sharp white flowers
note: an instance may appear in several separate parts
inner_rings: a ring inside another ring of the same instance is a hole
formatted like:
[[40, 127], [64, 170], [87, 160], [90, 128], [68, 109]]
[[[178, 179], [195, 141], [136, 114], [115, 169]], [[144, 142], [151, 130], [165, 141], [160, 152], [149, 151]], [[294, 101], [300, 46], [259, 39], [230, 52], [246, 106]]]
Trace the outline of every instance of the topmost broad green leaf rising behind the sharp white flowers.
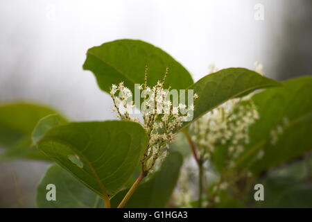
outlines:
[[166, 52], [140, 40], [116, 40], [87, 51], [83, 69], [96, 76], [98, 86], [105, 92], [112, 84], [125, 83], [134, 92], [135, 83], [144, 83], [144, 70], [148, 65], [148, 85], [162, 80], [166, 67], [169, 73], [166, 87], [185, 89], [193, 83], [191, 75]]

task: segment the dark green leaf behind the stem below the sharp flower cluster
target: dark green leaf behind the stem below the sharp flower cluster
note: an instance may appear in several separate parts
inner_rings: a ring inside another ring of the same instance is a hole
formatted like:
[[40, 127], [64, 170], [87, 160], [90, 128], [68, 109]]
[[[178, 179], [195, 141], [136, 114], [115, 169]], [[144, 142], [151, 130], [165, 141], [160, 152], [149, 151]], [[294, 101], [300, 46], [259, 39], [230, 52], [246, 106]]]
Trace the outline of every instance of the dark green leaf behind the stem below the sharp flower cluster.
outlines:
[[[163, 162], [159, 171], [147, 182], [139, 185], [134, 194], [125, 204], [128, 208], [164, 207], [168, 202], [179, 178], [182, 156], [180, 153], [171, 153]], [[119, 205], [128, 189], [119, 192], [112, 198], [112, 206]]]

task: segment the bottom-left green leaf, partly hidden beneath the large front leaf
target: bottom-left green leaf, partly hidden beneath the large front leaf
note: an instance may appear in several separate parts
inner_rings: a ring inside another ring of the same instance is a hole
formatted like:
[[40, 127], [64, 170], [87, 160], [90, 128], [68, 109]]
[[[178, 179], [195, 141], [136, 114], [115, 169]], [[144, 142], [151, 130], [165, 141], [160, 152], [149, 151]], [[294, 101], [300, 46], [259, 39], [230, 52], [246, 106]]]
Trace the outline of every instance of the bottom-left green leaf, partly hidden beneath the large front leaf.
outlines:
[[[47, 200], [47, 185], [55, 185], [56, 200]], [[40, 208], [97, 208], [103, 207], [103, 200], [88, 189], [68, 171], [53, 164], [44, 174], [37, 187], [37, 207]]]

